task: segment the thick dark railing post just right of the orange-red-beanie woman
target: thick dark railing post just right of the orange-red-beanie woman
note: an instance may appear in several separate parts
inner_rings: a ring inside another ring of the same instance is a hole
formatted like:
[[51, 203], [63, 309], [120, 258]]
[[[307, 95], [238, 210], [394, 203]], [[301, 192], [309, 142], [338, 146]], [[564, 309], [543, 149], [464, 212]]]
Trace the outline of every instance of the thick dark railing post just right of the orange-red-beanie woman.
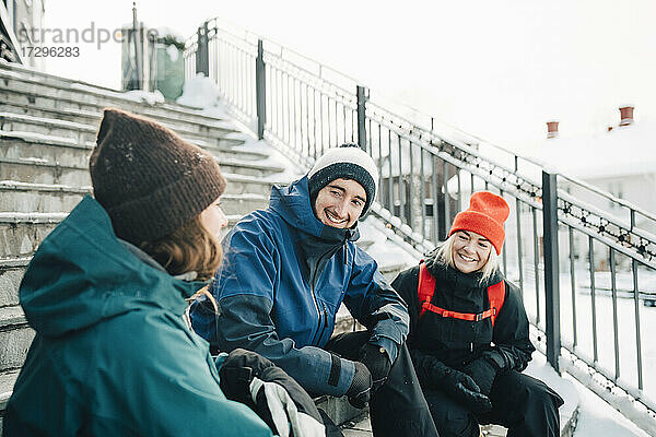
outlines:
[[557, 175], [542, 172], [542, 227], [544, 245], [544, 299], [547, 324], [547, 361], [560, 373], [560, 274], [558, 251]]

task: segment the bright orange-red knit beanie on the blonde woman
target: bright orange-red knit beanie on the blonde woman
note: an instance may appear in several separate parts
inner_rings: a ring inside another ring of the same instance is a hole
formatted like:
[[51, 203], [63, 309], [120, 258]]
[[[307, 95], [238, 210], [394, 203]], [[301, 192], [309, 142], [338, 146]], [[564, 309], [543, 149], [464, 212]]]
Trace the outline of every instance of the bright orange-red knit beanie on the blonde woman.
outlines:
[[490, 191], [477, 191], [469, 199], [469, 208], [456, 215], [448, 236], [456, 231], [475, 232], [488, 238], [496, 255], [501, 255], [505, 239], [503, 223], [509, 213], [511, 209], [502, 197]]

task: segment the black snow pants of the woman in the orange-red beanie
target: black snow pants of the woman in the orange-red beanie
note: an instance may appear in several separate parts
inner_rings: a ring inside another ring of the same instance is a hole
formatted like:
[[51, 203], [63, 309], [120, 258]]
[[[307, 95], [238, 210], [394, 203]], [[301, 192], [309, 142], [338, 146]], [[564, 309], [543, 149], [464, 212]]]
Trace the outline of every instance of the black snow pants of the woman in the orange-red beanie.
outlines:
[[507, 437], [558, 437], [562, 398], [539, 379], [518, 371], [499, 375], [492, 386], [492, 411], [475, 415], [442, 391], [424, 395], [442, 437], [478, 437], [479, 424], [508, 428]]

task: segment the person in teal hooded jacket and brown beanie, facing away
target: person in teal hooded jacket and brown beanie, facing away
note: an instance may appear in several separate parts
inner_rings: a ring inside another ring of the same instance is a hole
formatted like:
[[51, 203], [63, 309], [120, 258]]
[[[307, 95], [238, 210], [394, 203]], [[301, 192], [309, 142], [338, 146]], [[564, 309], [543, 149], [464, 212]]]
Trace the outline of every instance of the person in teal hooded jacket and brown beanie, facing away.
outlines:
[[85, 197], [20, 287], [36, 338], [4, 436], [271, 436], [226, 399], [187, 298], [221, 261], [213, 157], [153, 121], [106, 110]]

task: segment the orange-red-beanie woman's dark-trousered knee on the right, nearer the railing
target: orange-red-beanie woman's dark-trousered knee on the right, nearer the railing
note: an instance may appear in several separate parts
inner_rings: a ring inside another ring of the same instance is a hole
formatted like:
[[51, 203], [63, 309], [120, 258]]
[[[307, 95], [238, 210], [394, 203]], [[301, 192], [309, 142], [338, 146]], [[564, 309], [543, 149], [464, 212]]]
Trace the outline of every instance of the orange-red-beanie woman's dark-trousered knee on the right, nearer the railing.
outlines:
[[499, 375], [490, 393], [493, 410], [481, 423], [508, 428], [507, 437], [558, 437], [563, 399], [539, 379], [518, 371]]

